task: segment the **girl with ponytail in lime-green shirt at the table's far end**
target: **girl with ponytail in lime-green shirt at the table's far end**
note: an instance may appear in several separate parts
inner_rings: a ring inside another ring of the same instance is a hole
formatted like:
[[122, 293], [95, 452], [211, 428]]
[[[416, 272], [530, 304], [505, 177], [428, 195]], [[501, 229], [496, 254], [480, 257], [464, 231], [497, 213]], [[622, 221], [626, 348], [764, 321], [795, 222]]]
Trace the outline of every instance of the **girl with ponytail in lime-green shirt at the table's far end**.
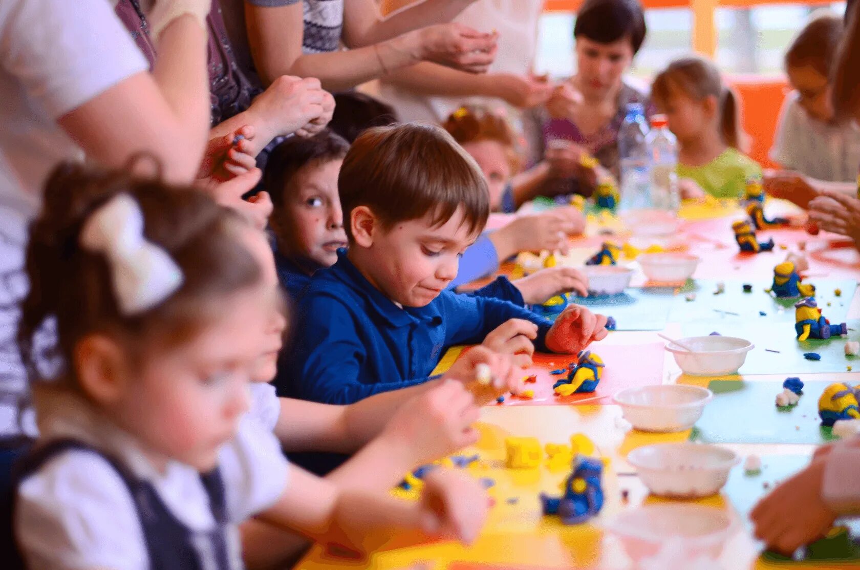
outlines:
[[716, 65], [698, 57], [676, 59], [654, 79], [651, 95], [678, 139], [684, 197], [697, 194], [684, 179], [716, 198], [735, 198], [743, 195], [747, 180], [761, 178], [759, 163], [738, 150], [736, 97]]

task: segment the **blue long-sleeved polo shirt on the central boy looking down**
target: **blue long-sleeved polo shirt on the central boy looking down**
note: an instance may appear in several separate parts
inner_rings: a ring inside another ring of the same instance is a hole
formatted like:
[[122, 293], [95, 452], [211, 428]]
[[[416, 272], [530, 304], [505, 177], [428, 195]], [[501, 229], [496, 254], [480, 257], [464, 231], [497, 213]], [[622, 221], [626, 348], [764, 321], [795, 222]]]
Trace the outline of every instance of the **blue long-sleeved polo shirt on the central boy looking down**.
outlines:
[[298, 300], [293, 347], [283, 354], [275, 386], [281, 396], [350, 404], [421, 384], [446, 348], [479, 344], [509, 319], [537, 324], [535, 346], [546, 350], [550, 321], [524, 307], [445, 290], [426, 307], [400, 308], [339, 251], [337, 263], [317, 271]]

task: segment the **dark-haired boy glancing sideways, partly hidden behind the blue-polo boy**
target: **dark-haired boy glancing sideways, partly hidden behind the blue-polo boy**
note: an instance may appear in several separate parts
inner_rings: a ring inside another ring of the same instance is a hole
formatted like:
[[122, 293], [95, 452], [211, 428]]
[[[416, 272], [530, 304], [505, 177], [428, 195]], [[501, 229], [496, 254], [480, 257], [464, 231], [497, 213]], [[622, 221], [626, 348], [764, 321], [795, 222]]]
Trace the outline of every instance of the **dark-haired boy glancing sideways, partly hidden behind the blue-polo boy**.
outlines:
[[296, 298], [316, 270], [347, 246], [337, 176], [349, 143], [329, 130], [287, 139], [272, 152], [264, 182], [272, 196], [269, 226], [281, 285]]

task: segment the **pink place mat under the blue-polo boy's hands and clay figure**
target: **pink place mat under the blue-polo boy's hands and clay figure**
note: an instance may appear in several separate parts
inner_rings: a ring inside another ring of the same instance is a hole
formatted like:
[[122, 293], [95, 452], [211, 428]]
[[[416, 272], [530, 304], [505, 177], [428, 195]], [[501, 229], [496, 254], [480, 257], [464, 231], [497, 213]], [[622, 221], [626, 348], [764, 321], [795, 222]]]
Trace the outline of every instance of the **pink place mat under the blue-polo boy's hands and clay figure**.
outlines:
[[506, 396], [501, 404], [491, 406], [555, 406], [574, 404], [611, 404], [611, 396], [624, 388], [654, 386], [663, 379], [663, 344], [593, 344], [590, 348], [605, 362], [605, 369], [593, 393], [574, 393], [556, 396], [552, 385], [566, 375], [550, 375], [550, 370], [567, 369], [574, 362], [574, 355], [535, 354], [533, 364], [524, 375], [537, 375], [537, 381], [526, 383], [526, 390], [533, 390], [531, 400]]

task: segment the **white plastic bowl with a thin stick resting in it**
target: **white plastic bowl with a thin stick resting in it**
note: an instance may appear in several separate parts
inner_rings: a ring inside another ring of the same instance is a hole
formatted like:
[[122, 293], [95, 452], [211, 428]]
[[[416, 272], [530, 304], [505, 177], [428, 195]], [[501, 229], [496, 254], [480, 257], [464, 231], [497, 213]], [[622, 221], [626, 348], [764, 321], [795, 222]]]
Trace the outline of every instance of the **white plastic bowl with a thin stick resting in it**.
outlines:
[[737, 337], [687, 337], [679, 338], [693, 352], [677, 344], [668, 343], [666, 350], [675, 357], [675, 362], [684, 374], [693, 376], [722, 376], [734, 374], [746, 362], [746, 353], [753, 350], [753, 343]]

